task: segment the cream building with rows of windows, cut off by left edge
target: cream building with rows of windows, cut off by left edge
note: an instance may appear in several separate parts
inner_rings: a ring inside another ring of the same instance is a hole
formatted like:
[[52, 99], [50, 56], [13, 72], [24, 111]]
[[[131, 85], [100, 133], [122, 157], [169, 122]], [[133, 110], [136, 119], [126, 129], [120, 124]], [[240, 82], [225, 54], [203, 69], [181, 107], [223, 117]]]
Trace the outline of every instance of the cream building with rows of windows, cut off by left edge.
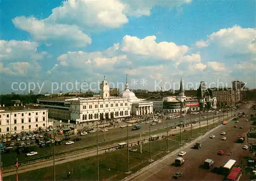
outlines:
[[0, 107], [0, 133], [19, 133], [48, 128], [48, 109], [36, 105], [15, 105]]

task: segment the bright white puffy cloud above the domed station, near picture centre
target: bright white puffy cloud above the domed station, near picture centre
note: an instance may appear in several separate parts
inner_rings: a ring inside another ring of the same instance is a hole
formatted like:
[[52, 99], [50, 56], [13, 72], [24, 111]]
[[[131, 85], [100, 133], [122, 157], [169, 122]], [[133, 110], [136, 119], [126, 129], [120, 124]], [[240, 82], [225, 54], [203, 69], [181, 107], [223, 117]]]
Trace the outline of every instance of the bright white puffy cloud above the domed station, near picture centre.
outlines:
[[177, 46], [174, 42], [156, 41], [156, 36], [147, 36], [140, 39], [136, 36], [125, 35], [121, 50], [144, 56], [151, 56], [164, 60], [173, 60], [182, 57], [187, 51], [187, 46]]

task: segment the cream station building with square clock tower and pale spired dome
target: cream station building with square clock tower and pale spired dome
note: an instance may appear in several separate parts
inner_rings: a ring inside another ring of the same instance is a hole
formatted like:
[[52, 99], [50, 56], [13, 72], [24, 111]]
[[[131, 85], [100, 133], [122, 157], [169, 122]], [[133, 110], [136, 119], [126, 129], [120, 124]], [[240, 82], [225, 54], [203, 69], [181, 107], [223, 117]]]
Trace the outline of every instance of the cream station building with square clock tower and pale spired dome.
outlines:
[[105, 80], [100, 83], [100, 96], [75, 98], [70, 101], [70, 119], [77, 124], [104, 119], [125, 118], [132, 115], [153, 113], [153, 102], [138, 99], [126, 83], [118, 97], [110, 96], [110, 85]]

